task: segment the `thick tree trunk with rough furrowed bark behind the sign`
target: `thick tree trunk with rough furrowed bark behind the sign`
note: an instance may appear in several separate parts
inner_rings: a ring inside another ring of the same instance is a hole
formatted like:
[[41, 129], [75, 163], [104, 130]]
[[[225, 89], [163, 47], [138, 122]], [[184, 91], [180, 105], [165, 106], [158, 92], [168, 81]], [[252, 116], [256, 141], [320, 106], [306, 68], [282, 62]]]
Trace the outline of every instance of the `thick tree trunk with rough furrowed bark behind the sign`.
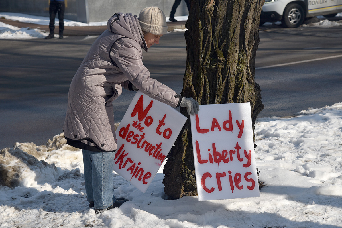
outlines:
[[[190, 0], [182, 96], [199, 104], [250, 102], [252, 124], [264, 108], [254, 82], [259, 19], [264, 0]], [[187, 112], [181, 108], [185, 116]], [[170, 199], [197, 195], [189, 118], [165, 164]]]

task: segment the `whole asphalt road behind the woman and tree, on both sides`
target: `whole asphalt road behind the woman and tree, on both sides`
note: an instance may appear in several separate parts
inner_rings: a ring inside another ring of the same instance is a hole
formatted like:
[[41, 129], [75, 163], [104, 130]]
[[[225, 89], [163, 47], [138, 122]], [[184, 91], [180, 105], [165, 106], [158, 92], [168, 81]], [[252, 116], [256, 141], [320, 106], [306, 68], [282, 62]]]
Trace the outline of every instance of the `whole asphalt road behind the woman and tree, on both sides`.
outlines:
[[[255, 81], [265, 109], [259, 117], [290, 116], [342, 102], [340, 27], [261, 27], [260, 38]], [[62, 132], [70, 81], [95, 39], [0, 40], [0, 148], [15, 142], [45, 144]], [[326, 59], [313, 60], [317, 58]], [[163, 36], [159, 45], [144, 53], [143, 62], [153, 78], [181, 92], [183, 32]], [[123, 91], [116, 101], [117, 122], [133, 96], [134, 92]]]

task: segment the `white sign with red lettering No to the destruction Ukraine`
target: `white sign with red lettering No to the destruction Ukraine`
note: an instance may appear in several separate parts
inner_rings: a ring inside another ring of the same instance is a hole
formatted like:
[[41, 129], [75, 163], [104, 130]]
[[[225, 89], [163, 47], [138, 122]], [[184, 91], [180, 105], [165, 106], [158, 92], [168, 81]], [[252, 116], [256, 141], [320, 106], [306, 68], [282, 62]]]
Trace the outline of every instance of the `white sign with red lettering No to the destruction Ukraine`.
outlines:
[[113, 170], [145, 192], [186, 119], [171, 106], [138, 91], [115, 132]]

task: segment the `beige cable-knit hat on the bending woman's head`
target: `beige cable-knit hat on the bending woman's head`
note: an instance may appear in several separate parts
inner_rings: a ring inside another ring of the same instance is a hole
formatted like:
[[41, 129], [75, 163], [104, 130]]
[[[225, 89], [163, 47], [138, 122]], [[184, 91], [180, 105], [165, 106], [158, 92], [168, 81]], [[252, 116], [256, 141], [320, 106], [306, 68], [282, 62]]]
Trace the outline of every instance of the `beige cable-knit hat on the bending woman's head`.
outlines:
[[154, 35], [164, 35], [168, 31], [164, 12], [157, 6], [142, 9], [139, 14], [141, 29]]

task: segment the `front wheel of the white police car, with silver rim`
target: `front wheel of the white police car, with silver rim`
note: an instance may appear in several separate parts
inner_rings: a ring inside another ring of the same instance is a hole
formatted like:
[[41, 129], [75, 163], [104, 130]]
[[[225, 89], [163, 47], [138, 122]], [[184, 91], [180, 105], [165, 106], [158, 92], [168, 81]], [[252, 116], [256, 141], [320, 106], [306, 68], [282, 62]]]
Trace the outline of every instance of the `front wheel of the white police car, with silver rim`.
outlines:
[[303, 24], [304, 17], [304, 10], [301, 5], [296, 3], [288, 4], [282, 14], [281, 23], [287, 28], [297, 28]]

